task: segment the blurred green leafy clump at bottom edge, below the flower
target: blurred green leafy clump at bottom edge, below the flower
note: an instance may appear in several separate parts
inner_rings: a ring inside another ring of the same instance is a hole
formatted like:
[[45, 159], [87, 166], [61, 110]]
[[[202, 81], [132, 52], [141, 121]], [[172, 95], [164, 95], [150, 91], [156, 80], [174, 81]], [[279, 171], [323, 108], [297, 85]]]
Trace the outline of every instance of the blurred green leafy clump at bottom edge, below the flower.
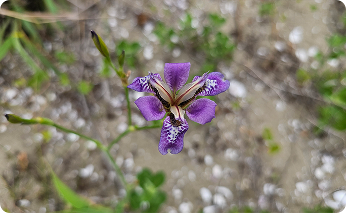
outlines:
[[159, 189], [165, 182], [165, 174], [160, 171], [153, 174], [149, 169], [143, 169], [137, 174], [137, 179], [140, 188], [130, 192], [131, 209], [141, 208], [145, 213], [157, 212], [166, 201], [166, 193]]

